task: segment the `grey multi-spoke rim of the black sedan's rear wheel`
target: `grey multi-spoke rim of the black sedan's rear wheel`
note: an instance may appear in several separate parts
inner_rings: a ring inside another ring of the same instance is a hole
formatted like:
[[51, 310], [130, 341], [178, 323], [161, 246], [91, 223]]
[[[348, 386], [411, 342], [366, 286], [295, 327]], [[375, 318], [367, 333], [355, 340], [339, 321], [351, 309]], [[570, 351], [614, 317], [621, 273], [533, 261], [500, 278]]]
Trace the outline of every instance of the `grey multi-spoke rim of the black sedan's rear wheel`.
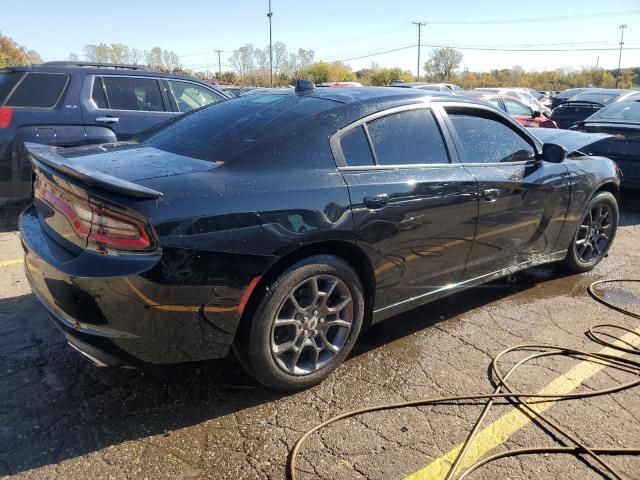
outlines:
[[353, 323], [347, 285], [329, 274], [299, 283], [280, 305], [271, 329], [276, 364], [293, 375], [313, 373], [342, 350]]

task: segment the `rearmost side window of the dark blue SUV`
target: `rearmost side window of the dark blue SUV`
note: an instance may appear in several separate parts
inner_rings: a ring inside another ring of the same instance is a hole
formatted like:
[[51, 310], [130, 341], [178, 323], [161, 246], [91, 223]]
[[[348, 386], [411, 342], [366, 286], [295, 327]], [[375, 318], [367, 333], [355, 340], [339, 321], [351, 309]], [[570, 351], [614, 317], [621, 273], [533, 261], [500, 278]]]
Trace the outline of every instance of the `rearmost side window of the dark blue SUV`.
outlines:
[[69, 76], [64, 73], [27, 73], [5, 102], [8, 107], [53, 108]]

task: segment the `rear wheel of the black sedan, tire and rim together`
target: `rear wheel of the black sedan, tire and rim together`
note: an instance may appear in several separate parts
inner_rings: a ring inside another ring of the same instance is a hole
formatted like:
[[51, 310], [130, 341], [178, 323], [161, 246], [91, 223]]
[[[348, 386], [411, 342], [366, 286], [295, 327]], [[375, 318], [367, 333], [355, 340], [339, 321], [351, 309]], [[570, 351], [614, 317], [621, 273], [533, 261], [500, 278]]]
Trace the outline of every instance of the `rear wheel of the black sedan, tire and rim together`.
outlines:
[[234, 349], [263, 385], [301, 390], [344, 361], [363, 318], [363, 289], [353, 268], [340, 258], [316, 255], [270, 282]]

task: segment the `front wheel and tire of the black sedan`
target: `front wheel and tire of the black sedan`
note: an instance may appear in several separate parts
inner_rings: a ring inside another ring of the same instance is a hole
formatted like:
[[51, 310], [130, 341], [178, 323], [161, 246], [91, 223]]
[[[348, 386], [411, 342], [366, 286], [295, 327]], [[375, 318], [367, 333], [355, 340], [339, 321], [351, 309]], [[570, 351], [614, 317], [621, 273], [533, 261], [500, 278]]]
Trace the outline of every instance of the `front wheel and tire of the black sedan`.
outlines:
[[572, 273], [588, 272], [607, 255], [618, 229], [618, 202], [611, 192], [599, 192], [587, 204], [564, 260]]

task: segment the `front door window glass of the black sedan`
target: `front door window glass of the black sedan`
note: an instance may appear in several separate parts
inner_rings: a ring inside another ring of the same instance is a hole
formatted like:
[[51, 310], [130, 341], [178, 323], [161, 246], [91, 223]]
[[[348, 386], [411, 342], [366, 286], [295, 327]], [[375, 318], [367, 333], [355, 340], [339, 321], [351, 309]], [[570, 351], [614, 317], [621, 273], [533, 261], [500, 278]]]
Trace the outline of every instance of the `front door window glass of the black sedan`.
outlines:
[[536, 151], [508, 125], [489, 114], [447, 108], [463, 163], [497, 163], [533, 160]]

